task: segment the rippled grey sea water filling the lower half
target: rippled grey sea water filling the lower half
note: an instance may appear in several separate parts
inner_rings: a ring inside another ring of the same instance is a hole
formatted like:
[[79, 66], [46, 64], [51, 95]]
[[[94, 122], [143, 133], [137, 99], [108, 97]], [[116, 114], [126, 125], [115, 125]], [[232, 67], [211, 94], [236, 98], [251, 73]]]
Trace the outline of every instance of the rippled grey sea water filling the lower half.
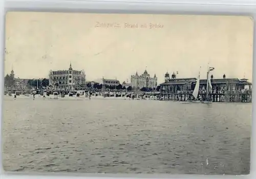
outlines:
[[26, 172], [247, 174], [251, 107], [5, 99], [3, 165]]

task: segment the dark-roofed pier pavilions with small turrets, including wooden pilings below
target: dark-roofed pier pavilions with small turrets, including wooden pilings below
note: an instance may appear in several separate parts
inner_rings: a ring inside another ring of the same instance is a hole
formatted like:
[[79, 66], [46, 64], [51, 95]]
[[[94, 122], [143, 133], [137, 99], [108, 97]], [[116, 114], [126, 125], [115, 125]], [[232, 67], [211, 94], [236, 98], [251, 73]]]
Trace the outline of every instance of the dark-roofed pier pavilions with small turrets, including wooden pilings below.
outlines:
[[[221, 79], [210, 77], [212, 90], [209, 96], [214, 102], [251, 102], [251, 86], [246, 78], [226, 78]], [[172, 78], [165, 74], [165, 82], [160, 84], [160, 94], [163, 100], [186, 101], [191, 98], [196, 85], [196, 78], [176, 78], [173, 73]], [[207, 79], [201, 79], [199, 85], [199, 97], [206, 95]]]

